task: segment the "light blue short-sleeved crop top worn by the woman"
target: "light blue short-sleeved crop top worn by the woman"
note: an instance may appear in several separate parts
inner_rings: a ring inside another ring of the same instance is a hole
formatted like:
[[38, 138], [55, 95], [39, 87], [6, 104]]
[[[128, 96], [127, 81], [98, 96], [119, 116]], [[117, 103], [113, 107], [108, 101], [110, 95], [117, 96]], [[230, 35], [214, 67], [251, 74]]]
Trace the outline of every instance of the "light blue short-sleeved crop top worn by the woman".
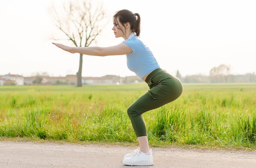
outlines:
[[139, 78], [142, 79], [146, 74], [160, 68], [153, 53], [138, 36], [130, 36], [123, 43], [128, 45], [133, 51], [126, 54], [127, 67], [132, 72], [135, 72]]

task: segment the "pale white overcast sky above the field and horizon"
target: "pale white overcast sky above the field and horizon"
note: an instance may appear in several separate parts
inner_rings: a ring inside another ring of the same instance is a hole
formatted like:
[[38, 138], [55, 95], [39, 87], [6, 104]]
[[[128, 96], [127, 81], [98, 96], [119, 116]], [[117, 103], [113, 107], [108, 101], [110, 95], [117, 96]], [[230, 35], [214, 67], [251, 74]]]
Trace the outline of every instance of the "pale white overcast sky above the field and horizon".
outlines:
[[[0, 75], [49, 76], [76, 74], [79, 54], [52, 44], [58, 31], [49, 7], [65, 0], [0, 1]], [[109, 24], [95, 46], [114, 46], [112, 16], [128, 9], [141, 16], [140, 39], [161, 68], [182, 76], [209, 75], [213, 67], [230, 66], [231, 74], [255, 73], [255, 0], [93, 0], [103, 3]], [[133, 76], [126, 56], [83, 56], [82, 76]]]

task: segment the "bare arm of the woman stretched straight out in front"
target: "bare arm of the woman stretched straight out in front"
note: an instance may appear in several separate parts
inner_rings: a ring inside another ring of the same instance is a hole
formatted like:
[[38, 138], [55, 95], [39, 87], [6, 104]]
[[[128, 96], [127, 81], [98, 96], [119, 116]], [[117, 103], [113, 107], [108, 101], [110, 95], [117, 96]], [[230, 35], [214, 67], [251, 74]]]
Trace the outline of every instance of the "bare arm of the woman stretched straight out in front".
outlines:
[[126, 53], [132, 52], [132, 49], [124, 43], [110, 47], [70, 47], [58, 43], [52, 44], [70, 53], [80, 53], [102, 57], [108, 55], [125, 55]]

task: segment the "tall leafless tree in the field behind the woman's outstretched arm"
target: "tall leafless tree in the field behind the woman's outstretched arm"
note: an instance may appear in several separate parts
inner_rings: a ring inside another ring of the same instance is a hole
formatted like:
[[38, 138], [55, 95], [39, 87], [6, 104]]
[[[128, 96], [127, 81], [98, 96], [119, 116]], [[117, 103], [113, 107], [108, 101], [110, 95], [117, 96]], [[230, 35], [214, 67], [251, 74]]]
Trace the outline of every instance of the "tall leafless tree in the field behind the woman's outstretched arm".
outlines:
[[[50, 8], [56, 27], [64, 33], [65, 39], [72, 41], [77, 47], [88, 47], [92, 42], [96, 43], [96, 37], [103, 30], [106, 13], [103, 4], [92, 6], [90, 0], [70, 0], [63, 4], [63, 14], [58, 13], [56, 7]], [[55, 39], [60, 40], [60, 39]], [[79, 58], [79, 70], [76, 73], [77, 85], [82, 86], [83, 54]]]

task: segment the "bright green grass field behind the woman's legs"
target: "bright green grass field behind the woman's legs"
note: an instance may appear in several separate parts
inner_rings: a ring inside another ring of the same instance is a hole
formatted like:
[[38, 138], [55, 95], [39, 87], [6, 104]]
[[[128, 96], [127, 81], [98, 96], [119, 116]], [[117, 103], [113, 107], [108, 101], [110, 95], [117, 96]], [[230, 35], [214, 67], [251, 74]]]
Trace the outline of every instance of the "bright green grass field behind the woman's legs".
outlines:
[[[129, 85], [1, 86], [0, 140], [137, 145]], [[256, 149], [256, 84], [184, 84], [180, 98], [143, 117], [150, 146]]]

